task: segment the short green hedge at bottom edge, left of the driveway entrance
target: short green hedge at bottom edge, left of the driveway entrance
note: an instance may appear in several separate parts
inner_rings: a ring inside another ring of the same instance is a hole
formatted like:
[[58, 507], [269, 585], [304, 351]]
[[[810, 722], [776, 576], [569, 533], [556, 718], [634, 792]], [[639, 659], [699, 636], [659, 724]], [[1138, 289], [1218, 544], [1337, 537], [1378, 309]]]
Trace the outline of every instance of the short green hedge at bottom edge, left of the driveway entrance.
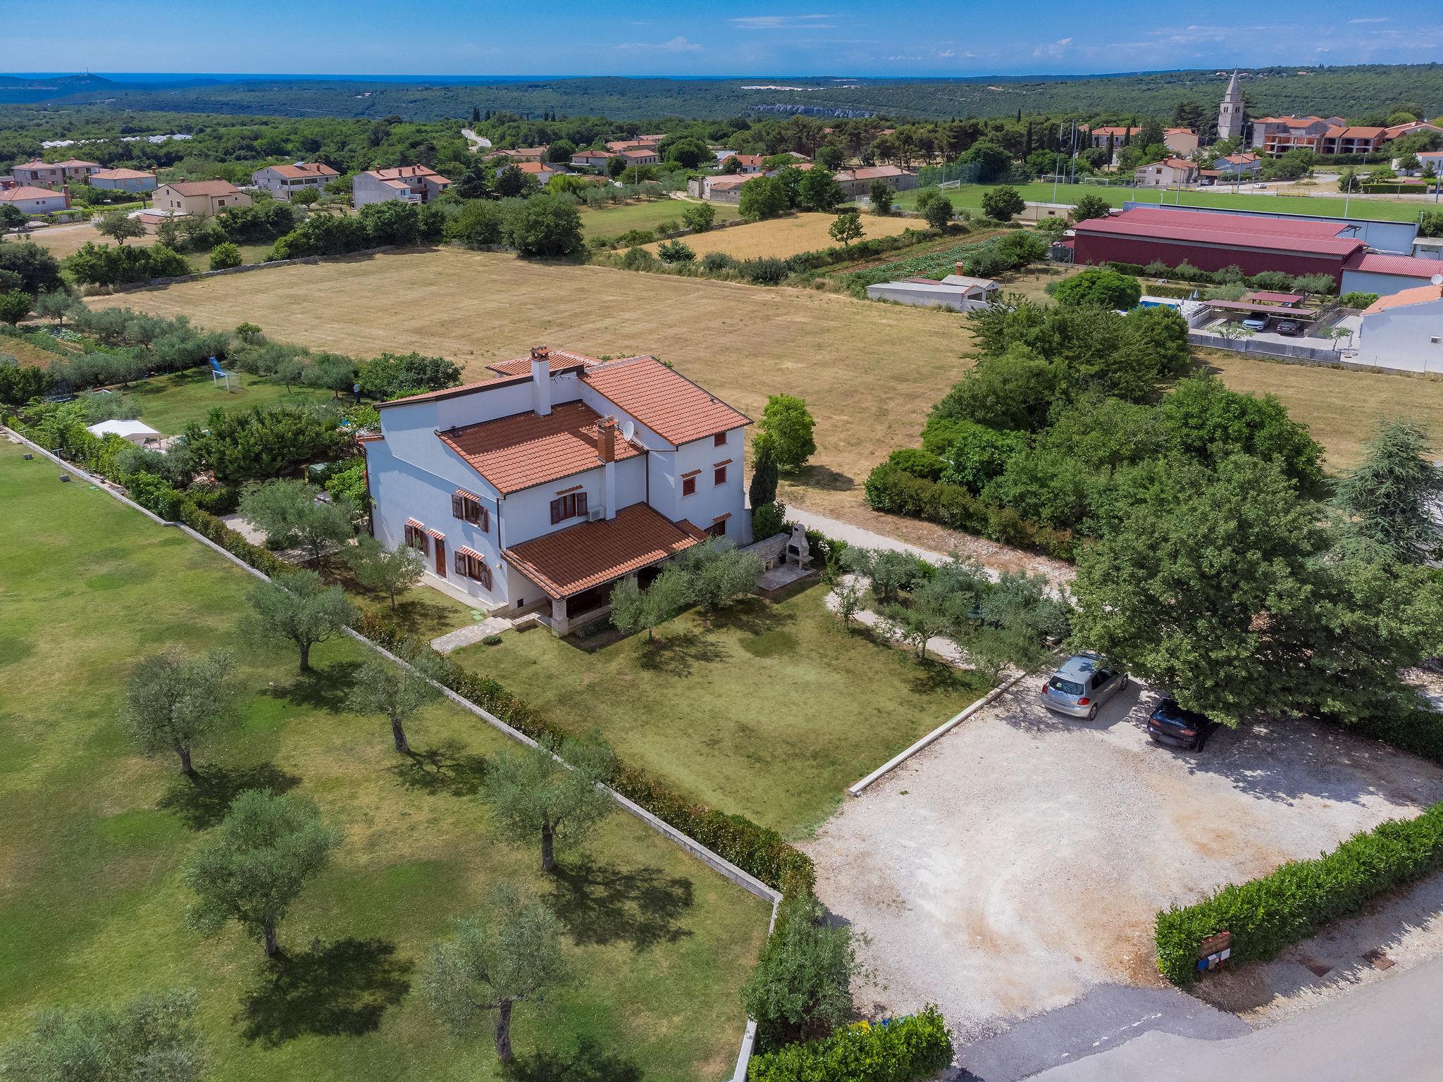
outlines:
[[752, 1057], [750, 1082], [909, 1082], [952, 1063], [952, 1034], [935, 1004], [880, 1026], [857, 1023], [830, 1037]]

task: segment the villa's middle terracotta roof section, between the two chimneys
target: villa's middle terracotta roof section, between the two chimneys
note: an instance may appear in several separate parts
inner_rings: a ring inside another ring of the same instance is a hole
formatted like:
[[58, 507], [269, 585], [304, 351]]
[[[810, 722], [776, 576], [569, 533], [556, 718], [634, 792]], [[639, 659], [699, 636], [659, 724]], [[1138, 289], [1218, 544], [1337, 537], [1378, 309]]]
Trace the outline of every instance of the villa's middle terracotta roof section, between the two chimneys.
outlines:
[[[545, 417], [518, 413], [436, 436], [505, 495], [600, 466], [597, 420], [584, 403], [563, 403]], [[616, 440], [618, 462], [638, 454], [626, 440]]]

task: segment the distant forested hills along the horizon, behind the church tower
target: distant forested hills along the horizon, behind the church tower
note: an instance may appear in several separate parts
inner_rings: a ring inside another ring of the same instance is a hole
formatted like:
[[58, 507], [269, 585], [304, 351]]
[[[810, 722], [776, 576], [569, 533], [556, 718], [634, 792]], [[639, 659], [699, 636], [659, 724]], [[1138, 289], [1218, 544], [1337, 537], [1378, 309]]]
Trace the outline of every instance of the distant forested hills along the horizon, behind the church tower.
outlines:
[[[101, 104], [126, 110], [281, 117], [387, 117], [442, 120], [470, 110], [615, 120], [681, 115], [722, 120], [739, 114], [866, 114], [925, 118], [1071, 114], [1170, 115], [1180, 101], [1211, 110], [1222, 97], [1216, 71], [1147, 72], [1087, 78], [983, 76], [970, 79], [661, 79], [579, 78], [544, 82], [424, 85], [395, 82], [251, 81], [203, 87], [134, 87], [95, 76], [58, 79], [45, 88], [0, 87], [0, 101]], [[63, 84], [63, 85], [62, 85]], [[1322, 113], [1356, 118], [1400, 104], [1443, 113], [1443, 65], [1264, 68], [1244, 72], [1254, 113]], [[55, 92], [59, 91], [59, 92]], [[100, 91], [97, 94], [97, 91]], [[25, 94], [27, 97], [6, 97]]]

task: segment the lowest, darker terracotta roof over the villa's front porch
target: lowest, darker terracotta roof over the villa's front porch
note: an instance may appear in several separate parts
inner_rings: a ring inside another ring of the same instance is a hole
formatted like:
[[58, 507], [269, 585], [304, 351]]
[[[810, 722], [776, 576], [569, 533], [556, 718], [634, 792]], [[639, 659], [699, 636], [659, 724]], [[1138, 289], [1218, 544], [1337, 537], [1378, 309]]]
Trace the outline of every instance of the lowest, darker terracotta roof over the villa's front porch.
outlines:
[[646, 503], [632, 503], [616, 512], [616, 518], [579, 522], [504, 548], [501, 554], [551, 597], [570, 597], [706, 540], [685, 519], [671, 522]]

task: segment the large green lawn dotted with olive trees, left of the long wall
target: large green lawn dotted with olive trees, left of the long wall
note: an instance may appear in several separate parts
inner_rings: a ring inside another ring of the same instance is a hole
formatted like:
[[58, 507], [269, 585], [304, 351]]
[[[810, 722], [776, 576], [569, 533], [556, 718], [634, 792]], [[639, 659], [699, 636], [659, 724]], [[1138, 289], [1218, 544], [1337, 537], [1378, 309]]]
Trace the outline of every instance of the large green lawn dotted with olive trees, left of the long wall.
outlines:
[[[397, 756], [384, 723], [343, 707], [367, 651], [326, 642], [299, 677], [237, 632], [254, 580], [218, 554], [4, 443], [0, 506], [0, 1034], [48, 1004], [192, 987], [215, 1079], [496, 1079], [489, 1034], [437, 1030], [410, 985], [450, 918], [511, 877], [553, 899], [582, 971], [548, 1013], [518, 1010], [518, 1078], [730, 1070], [765, 903], [622, 814], [543, 877], [473, 796], [506, 744], [470, 714], [429, 707]], [[117, 720], [130, 667], [167, 645], [225, 646], [241, 671], [241, 726], [198, 747], [193, 783], [134, 755]], [[315, 798], [345, 834], [281, 923], [278, 964], [234, 926], [189, 932], [179, 877], [261, 785]]]

